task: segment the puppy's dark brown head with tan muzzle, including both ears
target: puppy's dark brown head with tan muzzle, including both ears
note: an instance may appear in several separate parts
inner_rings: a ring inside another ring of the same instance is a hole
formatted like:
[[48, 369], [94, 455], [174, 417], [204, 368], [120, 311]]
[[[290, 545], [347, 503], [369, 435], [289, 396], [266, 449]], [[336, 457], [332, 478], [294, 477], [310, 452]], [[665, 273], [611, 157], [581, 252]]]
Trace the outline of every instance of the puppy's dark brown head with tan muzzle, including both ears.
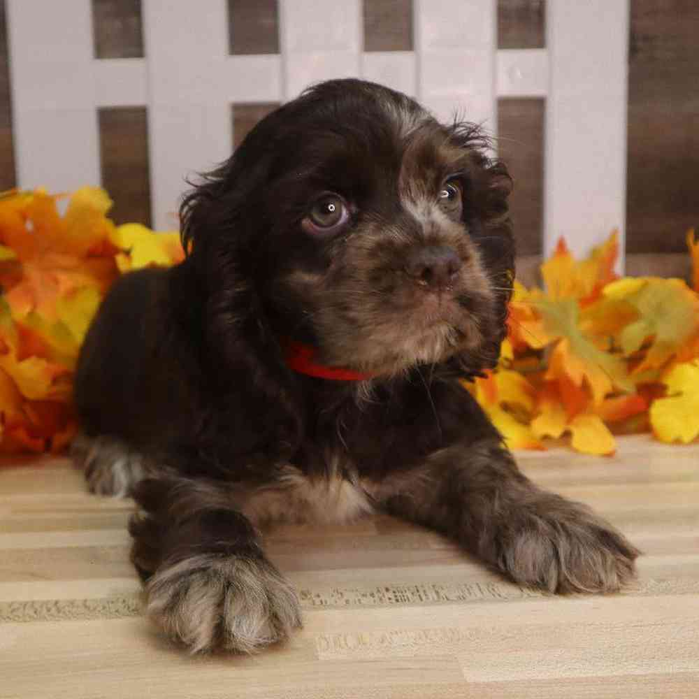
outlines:
[[287, 103], [185, 199], [212, 322], [376, 375], [493, 366], [514, 251], [510, 177], [487, 146], [361, 80]]

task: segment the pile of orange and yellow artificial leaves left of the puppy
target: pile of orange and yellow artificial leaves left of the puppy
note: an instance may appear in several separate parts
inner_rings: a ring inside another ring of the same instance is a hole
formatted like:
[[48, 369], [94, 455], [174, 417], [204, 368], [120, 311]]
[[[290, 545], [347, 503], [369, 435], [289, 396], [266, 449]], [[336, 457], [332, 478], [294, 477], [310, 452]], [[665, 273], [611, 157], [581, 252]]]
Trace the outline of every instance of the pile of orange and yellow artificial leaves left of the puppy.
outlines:
[[66, 446], [75, 361], [104, 294], [120, 271], [184, 257], [176, 233], [136, 226], [138, 235], [127, 227], [118, 236], [102, 189], [78, 189], [63, 216], [58, 199], [42, 189], [0, 194], [2, 451]]

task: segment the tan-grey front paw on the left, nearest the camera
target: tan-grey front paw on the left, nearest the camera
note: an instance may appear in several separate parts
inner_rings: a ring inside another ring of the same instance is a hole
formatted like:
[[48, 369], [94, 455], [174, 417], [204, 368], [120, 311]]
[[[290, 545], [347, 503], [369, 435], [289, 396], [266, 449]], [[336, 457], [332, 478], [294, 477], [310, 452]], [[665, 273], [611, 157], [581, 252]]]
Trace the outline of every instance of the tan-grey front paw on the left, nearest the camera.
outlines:
[[301, 626], [294, 589], [262, 557], [201, 554], [147, 582], [147, 613], [193, 653], [253, 653]]

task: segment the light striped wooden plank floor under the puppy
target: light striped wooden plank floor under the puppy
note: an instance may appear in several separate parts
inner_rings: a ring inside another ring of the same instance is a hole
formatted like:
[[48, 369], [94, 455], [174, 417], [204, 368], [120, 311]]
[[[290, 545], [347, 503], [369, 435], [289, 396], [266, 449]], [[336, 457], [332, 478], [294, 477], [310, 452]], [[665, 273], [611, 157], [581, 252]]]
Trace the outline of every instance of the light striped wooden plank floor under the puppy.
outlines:
[[387, 517], [285, 527], [267, 549], [303, 630], [259, 656], [195, 658], [139, 616], [128, 501], [87, 495], [64, 459], [1, 467], [0, 697], [699, 697], [699, 445], [519, 461], [643, 549], [636, 589], [542, 596]]

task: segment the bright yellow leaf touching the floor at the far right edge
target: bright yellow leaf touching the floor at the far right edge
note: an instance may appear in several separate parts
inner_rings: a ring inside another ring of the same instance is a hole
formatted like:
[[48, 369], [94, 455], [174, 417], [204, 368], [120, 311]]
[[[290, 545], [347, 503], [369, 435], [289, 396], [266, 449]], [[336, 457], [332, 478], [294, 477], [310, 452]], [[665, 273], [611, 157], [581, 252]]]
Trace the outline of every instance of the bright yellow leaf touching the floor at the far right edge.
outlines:
[[663, 383], [668, 396], [650, 408], [653, 431], [663, 442], [689, 444], [699, 436], [699, 360], [677, 364]]

